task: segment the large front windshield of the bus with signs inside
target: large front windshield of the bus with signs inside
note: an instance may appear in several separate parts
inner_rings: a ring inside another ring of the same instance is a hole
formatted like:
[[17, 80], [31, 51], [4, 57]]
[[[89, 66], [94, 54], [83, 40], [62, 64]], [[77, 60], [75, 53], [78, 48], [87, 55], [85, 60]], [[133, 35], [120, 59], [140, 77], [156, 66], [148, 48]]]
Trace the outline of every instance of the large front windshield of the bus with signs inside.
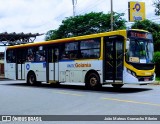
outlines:
[[134, 63], [152, 63], [153, 42], [151, 39], [131, 38], [127, 60]]

